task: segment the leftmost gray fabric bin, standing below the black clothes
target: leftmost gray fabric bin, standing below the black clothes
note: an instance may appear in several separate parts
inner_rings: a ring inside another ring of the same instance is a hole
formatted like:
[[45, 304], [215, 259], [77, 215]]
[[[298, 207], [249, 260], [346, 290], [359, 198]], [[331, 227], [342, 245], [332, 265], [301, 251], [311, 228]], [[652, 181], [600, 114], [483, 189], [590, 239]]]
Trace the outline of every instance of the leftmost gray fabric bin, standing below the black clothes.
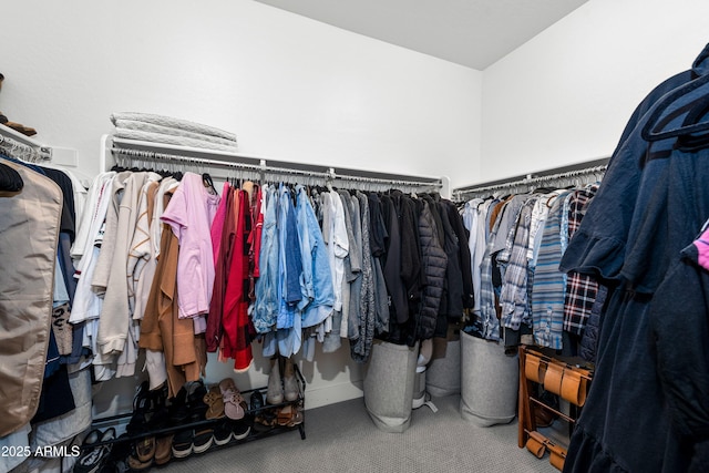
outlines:
[[379, 430], [403, 432], [411, 423], [419, 343], [374, 340], [364, 370], [364, 407]]

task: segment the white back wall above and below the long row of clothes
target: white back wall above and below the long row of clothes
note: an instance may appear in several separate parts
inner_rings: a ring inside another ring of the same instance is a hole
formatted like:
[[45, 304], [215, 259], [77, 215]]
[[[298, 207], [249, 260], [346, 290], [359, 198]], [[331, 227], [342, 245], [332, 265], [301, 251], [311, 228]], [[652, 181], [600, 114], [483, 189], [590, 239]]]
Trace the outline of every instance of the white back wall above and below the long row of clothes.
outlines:
[[[237, 134], [240, 152], [274, 160], [477, 172], [479, 71], [249, 0], [29, 0], [0, 14], [0, 111], [35, 127], [38, 141], [76, 150], [90, 176], [115, 111], [218, 126]], [[248, 374], [212, 357], [208, 380], [265, 385], [269, 367], [254, 349]], [[308, 408], [361, 395], [347, 343], [300, 366]], [[100, 414], [130, 407], [134, 384], [105, 384]]]

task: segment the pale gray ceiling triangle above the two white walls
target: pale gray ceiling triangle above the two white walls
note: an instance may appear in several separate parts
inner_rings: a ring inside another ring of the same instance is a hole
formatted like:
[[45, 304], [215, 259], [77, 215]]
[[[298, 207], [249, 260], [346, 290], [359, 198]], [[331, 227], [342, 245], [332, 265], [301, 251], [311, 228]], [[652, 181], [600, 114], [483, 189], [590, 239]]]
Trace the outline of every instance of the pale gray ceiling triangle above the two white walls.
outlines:
[[476, 70], [588, 0], [257, 0]]

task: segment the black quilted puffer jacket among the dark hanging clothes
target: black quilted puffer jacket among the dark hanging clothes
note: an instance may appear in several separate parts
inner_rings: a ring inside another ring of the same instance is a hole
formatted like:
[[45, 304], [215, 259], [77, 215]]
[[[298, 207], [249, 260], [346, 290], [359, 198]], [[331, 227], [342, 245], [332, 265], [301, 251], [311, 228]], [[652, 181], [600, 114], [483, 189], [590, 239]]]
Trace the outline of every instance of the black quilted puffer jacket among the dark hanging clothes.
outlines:
[[417, 338], [425, 340], [435, 332], [439, 306], [445, 286], [448, 257], [439, 239], [439, 230], [429, 203], [422, 199], [419, 215], [419, 238], [421, 241], [422, 271], [425, 278], [419, 312]]

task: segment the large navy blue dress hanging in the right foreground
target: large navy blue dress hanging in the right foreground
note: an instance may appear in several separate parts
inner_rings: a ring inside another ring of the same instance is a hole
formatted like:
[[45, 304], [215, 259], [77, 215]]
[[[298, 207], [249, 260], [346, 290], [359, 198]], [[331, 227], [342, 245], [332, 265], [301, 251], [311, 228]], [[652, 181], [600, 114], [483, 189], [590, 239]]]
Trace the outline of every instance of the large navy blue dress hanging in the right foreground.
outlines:
[[[688, 388], [689, 399], [680, 402], [689, 401], [690, 405], [701, 405], [709, 393], [703, 390], [697, 397], [692, 390], [700, 385], [696, 383], [698, 371], [686, 383], [688, 378], [670, 368], [676, 367], [671, 353], [684, 352], [685, 345], [692, 342], [698, 343], [691, 348], [696, 352], [705, 340], [681, 340], [679, 350], [676, 326], [668, 331], [665, 328], [681, 320], [682, 331], [689, 329], [691, 337], [702, 329], [686, 325], [689, 319], [685, 313], [654, 315], [656, 309], [677, 304], [677, 296], [664, 290], [664, 280], [669, 281], [672, 261], [709, 217], [707, 193], [699, 191], [709, 175], [709, 162], [706, 150], [686, 154], [677, 148], [671, 134], [648, 142], [643, 131], [646, 126], [653, 126], [653, 133], [679, 128], [688, 114], [695, 113], [692, 105], [701, 104], [709, 94], [708, 60], [709, 47], [691, 71], [666, 80], [638, 105], [594, 204], [562, 259], [563, 270], [593, 275], [609, 287], [594, 382], [572, 434], [565, 471], [685, 472], [705, 466], [695, 462], [707, 459], [701, 433], [706, 423], [700, 429], [686, 429], [686, 417], [675, 403], [677, 385], [671, 383], [679, 381], [684, 385], [680, 391]], [[701, 287], [695, 279], [689, 290], [703, 290]], [[699, 310], [706, 325], [708, 309]], [[654, 321], [661, 322], [656, 326]], [[700, 369], [706, 366], [703, 358], [701, 354], [700, 364], [691, 362], [686, 368]], [[667, 368], [674, 381], [668, 379]], [[699, 372], [706, 377], [706, 371]], [[637, 412], [651, 415], [638, 417]], [[638, 422], [615, 422], [609, 414], [617, 419], [633, 415]]]

